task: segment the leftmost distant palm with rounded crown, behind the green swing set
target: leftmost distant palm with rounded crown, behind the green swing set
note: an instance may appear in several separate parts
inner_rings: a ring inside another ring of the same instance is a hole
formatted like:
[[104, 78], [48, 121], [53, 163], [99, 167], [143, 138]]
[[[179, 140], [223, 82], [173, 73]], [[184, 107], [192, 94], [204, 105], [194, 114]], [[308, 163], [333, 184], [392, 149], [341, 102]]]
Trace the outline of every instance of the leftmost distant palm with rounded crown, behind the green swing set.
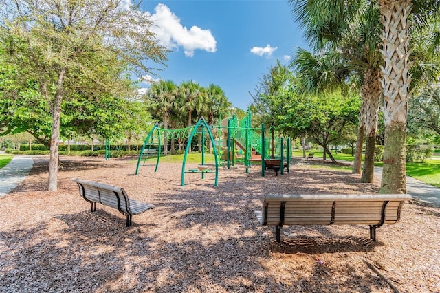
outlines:
[[[177, 87], [172, 80], [159, 80], [153, 83], [147, 91], [147, 97], [150, 101], [151, 110], [159, 113], [164, 122], [164, 129], [168, 129], [170, 122], [170, 111], [175, 107]], [[164, 138], [164, 155], [168, 153], [168, 140]]]

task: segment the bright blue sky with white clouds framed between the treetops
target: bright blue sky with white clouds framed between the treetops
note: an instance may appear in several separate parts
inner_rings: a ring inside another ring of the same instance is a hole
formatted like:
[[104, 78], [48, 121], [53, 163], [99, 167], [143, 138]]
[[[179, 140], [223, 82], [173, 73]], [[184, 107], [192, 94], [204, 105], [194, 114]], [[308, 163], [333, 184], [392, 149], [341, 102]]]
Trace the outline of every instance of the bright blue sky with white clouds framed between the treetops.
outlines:
[[151, 14], [160, 43], [172, 50], [159, 78], [219, 85], [244, 110], [252, 102], [249, 91], [276, 60], [286, 64], [296, 47], [307, 47], [285, 0], [144, 1], [142, 10]]

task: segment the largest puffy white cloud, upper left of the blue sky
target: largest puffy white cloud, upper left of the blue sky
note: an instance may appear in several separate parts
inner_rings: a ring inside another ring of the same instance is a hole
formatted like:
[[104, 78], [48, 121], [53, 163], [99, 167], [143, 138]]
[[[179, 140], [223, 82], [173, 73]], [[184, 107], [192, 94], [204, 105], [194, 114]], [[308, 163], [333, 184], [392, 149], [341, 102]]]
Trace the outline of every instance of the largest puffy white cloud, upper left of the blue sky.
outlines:
[[188, 57], [194, 56], [195, 50], [217, 51], [217, 41], [210, 30], [202, 30], [197, 26], [192, 26], [188, 30], [181, 25], [179, 17], [162, 3], [155, 7], [151, 20], [154, 23], [151, 31], [156, 34], [160, 45], [168, 49], [177, 50], [182, 47], [184, 54]]

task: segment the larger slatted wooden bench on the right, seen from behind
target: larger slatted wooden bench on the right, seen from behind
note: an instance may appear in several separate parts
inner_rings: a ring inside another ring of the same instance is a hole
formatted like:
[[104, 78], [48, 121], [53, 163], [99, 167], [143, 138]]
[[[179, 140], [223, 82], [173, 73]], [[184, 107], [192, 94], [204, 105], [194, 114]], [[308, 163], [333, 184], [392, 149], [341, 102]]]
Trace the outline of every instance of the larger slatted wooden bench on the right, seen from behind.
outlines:
[[365, 224], [370, 239], [376, 228], [395, 224], [410, 195], [266, 195], [263, 210], [256, 211], [261, 225], [275, 225], [275, 239], [281, 242], [283, 225]]

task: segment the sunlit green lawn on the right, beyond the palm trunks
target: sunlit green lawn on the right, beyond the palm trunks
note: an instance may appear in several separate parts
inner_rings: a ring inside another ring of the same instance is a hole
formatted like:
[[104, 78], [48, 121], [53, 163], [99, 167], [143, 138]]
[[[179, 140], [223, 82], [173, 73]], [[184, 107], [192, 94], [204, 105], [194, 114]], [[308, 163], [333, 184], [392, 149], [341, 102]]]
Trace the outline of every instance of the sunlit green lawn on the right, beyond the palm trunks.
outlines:
[[[322, 158], [322, 151], [308, 151], [314, 153], [314, 158]], [[294, 156], [302, 157], [302, 151], [294, 151]], [[353, 162], [354, 157], [344, 153], [332, 153], [333, 157], [338, 160]], [[375, 166], [383, 166], [383, 162], [375, 162]], [[340, 168], [338, 166], [337, 168]], [[421, 182], [431, 184], [440, 188], [440, 160], [426, 160], [425, 163], [406, 163], [406, 175], [411, 176]]]

